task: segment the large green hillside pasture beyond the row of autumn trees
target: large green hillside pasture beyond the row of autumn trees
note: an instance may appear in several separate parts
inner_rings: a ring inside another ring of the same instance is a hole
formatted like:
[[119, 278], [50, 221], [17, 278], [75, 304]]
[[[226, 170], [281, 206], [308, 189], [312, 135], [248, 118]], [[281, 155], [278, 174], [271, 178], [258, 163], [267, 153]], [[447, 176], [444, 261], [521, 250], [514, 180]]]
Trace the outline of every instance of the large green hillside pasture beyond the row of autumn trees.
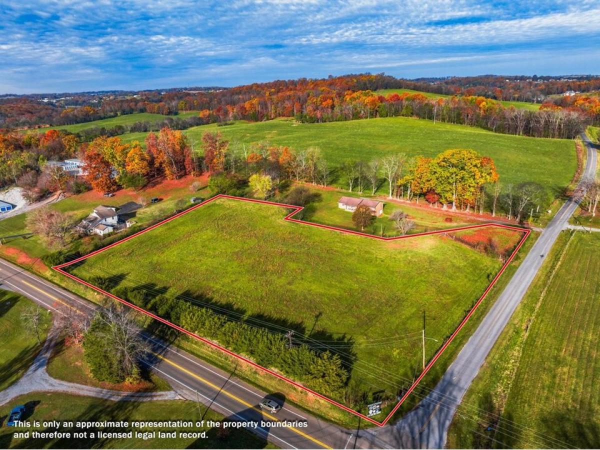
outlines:
[[[340, 167], [347, 160], [370, 161], [398, 153], [433, 157], [451, 148], [470, 148], [493, 158], [500, 183], [537, 182], [553, 198], [563, 193], [577, 167], [575, 146], [570, 140], [512, 136], [405, 117], [325, 124], [295, 124], [284, 119], [239, 121], [227, 127], [202, 125], [184, 133], [190, 137], [194, 149], [202, 149], [202, 134], [206, 131], [220, 131], [232, 143], [268, 141], [297, 150], [318, 146], [332, 168]], [[122, 138], [142, 142], [145, 136], [146, 133], [130, 133]], [[338, 175], [335, 185], [346, 187], [342, 174], [333, 175]], [[383, 193], [385, 187], [381, 189]]]

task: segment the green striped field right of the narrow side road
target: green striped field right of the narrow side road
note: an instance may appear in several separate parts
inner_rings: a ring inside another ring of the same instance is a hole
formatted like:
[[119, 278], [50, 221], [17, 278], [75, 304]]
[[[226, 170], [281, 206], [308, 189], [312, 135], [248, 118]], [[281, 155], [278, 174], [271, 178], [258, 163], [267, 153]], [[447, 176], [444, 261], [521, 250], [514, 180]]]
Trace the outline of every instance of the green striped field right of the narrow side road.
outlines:
[[598, 233], [563, 232], [459, 407], [449, 448], [600, 446], [598, 251]]

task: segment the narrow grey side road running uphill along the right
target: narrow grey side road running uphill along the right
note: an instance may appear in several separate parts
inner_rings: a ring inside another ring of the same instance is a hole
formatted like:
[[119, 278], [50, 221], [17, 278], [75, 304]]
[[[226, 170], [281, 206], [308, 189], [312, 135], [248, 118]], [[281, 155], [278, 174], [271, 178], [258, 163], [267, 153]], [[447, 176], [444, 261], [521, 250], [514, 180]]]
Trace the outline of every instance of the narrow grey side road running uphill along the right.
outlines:
[[450, 365], [436, 388], [419, 406], [391, 427], [372, 433], [395, 448], [443, 448], [448, 428], [465, 392], [479, 372], [485, 358], [508, 323], [515, 308], [527, 292], [560, 231], [575, 212], [584, 181], [593, 180], [596, 172], [596, 150], [583, 136], [587, 146], [587, 162], [577, 193], [560, 208], [525, 257], [514, 277], [491, 307], [472, 337]]

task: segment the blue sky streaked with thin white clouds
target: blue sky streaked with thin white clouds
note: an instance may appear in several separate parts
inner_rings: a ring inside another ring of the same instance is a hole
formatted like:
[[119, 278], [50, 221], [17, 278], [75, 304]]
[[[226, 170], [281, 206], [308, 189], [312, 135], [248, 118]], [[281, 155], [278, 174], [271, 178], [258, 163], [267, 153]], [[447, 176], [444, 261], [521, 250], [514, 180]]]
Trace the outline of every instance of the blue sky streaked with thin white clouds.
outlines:
[[600, 0], [0, 0], [0, 92], [599, 74]]

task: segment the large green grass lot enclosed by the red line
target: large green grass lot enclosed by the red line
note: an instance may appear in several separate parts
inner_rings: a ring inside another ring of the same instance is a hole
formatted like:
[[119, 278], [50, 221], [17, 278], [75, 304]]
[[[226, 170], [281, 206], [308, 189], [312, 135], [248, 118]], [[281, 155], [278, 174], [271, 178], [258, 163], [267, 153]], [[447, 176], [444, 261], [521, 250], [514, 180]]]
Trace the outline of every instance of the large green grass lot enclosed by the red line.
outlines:
[[424, 312], [431, 358], [502, 265], [450, 238], [381, 242], [283, 221], [288, 211], [218, 199], [69, 270], [325, 336], [318, 346], [355, 352], [352, 377], [381, 389], [420, 371]]

